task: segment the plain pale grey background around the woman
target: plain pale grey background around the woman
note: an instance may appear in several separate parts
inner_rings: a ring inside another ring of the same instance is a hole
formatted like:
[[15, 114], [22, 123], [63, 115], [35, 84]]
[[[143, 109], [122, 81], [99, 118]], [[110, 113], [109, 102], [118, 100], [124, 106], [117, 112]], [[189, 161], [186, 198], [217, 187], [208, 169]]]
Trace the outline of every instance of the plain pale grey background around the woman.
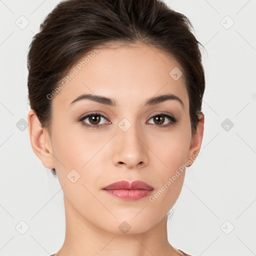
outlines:
[[[22, 126], [27, 48], [58, 2], [0, 0], [1, 256], [49, 255], [64, 240], [62, 190]], [[196, 256], [256, 255], [256, 0], [165, 2], [188, 16], [206, 48], [201, 155], [186, 170], [168, 239]]]

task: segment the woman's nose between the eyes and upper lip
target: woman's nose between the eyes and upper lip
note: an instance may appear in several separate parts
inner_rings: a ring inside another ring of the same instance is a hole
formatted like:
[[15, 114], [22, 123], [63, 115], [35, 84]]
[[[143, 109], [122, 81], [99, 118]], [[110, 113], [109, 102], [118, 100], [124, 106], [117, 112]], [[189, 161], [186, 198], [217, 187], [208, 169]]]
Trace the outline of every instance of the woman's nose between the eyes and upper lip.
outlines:
[[135, 124], [132, 124], [126, 131], [120, 127], [116, 127], [117, 134], [113, 140], [113, 164], [125, 166], [128, 169], [146, 166], [149, 160], [149, 149], [146, 147], [145, 134], [141, 129], [138, 130]]

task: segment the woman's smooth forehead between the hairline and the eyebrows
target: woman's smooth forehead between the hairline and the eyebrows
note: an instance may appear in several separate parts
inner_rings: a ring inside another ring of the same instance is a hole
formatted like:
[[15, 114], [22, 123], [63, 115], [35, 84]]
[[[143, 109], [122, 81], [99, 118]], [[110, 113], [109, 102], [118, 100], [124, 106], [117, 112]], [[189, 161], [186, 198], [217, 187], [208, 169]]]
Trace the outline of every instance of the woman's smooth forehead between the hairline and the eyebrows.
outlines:
[[188, 95], [184, 76], [173, 79], [172, 70], [180, 75], [182, 67], [169, 54], [152, 45], [96, 47], [69, 70], [53, 102], [65, 108], [79, 95], [92, 93], [113, 98], [116, 106], [123, 106], [125, 102], [144, 102], [152, 96], [172, 93], [181, 98], [186, 107]]

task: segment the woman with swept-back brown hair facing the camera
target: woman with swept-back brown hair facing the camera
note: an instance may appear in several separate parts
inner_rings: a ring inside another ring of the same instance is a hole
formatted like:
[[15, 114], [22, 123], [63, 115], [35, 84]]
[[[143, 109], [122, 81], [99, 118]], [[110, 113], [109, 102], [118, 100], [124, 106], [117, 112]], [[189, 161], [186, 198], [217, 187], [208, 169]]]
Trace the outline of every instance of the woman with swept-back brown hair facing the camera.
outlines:
[[52, 255], [189, 255], [166, 223], [203, 136], [190, 29], [159, 0], [66, 0], [41, 24], [27, 118], [63, 190], [65, 239]]

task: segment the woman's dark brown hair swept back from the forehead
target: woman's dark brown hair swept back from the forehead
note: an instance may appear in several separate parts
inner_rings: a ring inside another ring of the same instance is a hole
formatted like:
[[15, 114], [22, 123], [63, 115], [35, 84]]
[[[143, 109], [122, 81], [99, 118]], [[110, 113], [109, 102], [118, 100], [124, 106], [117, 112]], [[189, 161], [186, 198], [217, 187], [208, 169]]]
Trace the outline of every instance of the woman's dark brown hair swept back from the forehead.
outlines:
[[[192, 134], [205, 87], [201, 45], [189, 19], [161, 0], [65, 0], [46, 16], [29, 46], [28, 98], [42, 127], [50, 131], [51, 100], [68, 70], [87, 52], [106, 43], [152, 45], [182, 66], [189, 95]], [[55, 169], [51, 169], [56, 175]]]

